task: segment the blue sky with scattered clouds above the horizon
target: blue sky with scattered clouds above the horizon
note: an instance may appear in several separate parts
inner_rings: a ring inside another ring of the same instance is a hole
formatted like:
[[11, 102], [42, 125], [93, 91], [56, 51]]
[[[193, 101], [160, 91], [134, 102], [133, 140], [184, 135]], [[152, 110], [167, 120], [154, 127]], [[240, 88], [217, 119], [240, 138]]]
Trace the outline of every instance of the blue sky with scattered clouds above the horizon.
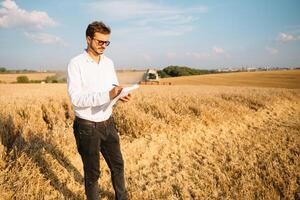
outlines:
[[95, 20], [117, 69], [300, 66], [299, 0], [2, 0], [0, 66], [65, 70]]

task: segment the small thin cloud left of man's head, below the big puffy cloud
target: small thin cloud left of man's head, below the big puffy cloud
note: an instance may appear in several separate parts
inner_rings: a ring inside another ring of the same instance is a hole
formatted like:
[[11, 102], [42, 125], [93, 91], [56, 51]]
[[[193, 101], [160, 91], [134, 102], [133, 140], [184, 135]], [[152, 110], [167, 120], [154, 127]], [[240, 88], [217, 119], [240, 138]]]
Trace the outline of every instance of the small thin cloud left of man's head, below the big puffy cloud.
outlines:
[[25, 32], [25, 36], [36, 43], [40, 44], [59, 44], [66, 46], [67, 44], [58, 36], [48, 33], [28, 33]]

